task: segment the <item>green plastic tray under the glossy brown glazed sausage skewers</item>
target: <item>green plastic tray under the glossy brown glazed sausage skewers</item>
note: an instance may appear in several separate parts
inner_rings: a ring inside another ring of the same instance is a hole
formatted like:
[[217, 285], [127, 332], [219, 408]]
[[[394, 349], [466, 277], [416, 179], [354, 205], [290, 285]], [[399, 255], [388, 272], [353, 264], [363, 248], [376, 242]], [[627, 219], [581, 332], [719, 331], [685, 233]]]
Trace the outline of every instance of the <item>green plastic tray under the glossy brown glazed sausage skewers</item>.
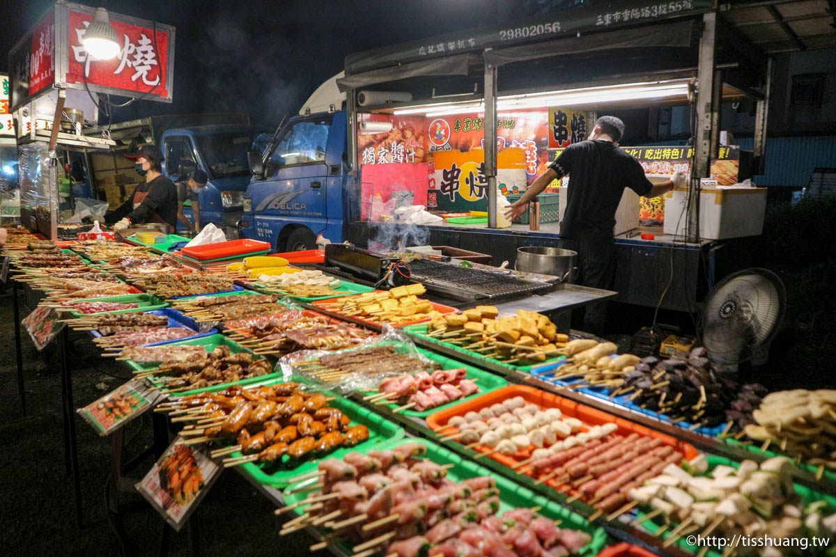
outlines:
[[[351, 451], [369, 451], [378, 448], [381, 443], [403, 438], [406, 434], [404, 429], [397, 424], [390, 422], [367, 408], [361, 407], [348, 398], [337, 397], [329, 402], [329, 407], [341, 410], [346, 416], [351, 418], [352, 425], [362, 424], [369, 428], [369, 440], [360, 443], [356, 447], [338, 448], [324, 455], [322, 458], [343, 458], [345, 453]], [[238, 457], [242, 456], [242, 453], [232, 453], [230, 456]], [[285, 456], [282, 458], [281, 463], [246, 463], [242, 465], [242, 468], [260, 484], [283, 488], [288, 485], [289, 479], [316, 469], [319, 466], [319, 459], [307, 460], [298, 465], [295, 464], [291, 463], [290, 458]]]

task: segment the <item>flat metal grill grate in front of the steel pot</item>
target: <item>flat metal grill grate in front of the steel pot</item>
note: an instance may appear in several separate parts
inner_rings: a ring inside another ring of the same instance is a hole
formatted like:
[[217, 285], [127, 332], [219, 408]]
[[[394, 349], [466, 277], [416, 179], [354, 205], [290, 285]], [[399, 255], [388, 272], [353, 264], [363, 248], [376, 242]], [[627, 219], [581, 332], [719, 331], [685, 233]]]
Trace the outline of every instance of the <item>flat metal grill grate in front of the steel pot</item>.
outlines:
[[553, 288], [553, 285], [546, 282], [523, 281], [516, 276], [426, 259], [411, 261], [410, 269], [413, 280], [420, 281], [428, 290], [442, 292], [459, 300], [519, 297]]

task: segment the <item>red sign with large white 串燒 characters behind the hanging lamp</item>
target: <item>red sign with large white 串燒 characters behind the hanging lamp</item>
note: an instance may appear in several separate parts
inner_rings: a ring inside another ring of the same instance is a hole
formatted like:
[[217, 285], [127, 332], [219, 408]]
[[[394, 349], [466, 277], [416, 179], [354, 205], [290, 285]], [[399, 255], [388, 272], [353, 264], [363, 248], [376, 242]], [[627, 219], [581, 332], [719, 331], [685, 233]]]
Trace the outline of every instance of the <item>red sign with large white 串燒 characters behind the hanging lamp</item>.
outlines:
[[166, 29], [145, 28], [111, 18], [116, 30], [119, 53], [110, 60], [88, 57], [81, 43], [93, 14], [69, 11], [68, 84], [87, 83], [123, 89], [134, 93], [168, 96], [169, 33]]

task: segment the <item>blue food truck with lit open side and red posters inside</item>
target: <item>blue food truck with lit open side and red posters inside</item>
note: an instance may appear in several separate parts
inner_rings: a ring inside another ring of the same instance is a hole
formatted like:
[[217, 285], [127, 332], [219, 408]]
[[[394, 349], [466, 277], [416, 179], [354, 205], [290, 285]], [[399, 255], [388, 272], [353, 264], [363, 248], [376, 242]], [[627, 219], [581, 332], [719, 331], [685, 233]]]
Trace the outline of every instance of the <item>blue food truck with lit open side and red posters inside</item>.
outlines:
[[[541, 196], [535, 226], [498, 227], [497, 195], [518, 199], [608, 110], [691, 105], [692, 145], [622, 145], [649, 175], [690, 174], [689, 187], [665, 200], [627, 190], [614, 229], [619, 301], [691, 311], [721, 273], [722, 242], [760, 233], [766, 200], [733, 186], [763, 164], [771, 60], [732, 44], [718, 17], [699, 0], [582, 7], [351, 54], [252, 161], [242, 235], [279, 251], [319, 234], [481, 248], [513, 264], [518, 247], [559, 245], [568, 180]], [[752, 152], [721, 144], [723, 99], [757, 106]], [[436, 218], [401, 220], [414, 205]], [[672, 267], [686, 280], [665, 292]]]

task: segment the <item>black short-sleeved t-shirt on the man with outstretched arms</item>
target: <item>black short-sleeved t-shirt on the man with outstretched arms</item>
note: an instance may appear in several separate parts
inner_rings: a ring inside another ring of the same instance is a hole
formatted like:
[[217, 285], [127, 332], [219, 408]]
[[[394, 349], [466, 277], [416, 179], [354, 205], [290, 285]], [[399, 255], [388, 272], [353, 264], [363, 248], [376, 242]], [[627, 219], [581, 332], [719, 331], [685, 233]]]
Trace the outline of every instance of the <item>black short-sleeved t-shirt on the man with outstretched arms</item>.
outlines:
[[637, 160], [601, 139], [569, 145], [549, 167], [561, 178], [569, 176], [560, 225], [560, 237], [568, 240], [612, 241], [624, 188], [639, 195], [653, 188]]

